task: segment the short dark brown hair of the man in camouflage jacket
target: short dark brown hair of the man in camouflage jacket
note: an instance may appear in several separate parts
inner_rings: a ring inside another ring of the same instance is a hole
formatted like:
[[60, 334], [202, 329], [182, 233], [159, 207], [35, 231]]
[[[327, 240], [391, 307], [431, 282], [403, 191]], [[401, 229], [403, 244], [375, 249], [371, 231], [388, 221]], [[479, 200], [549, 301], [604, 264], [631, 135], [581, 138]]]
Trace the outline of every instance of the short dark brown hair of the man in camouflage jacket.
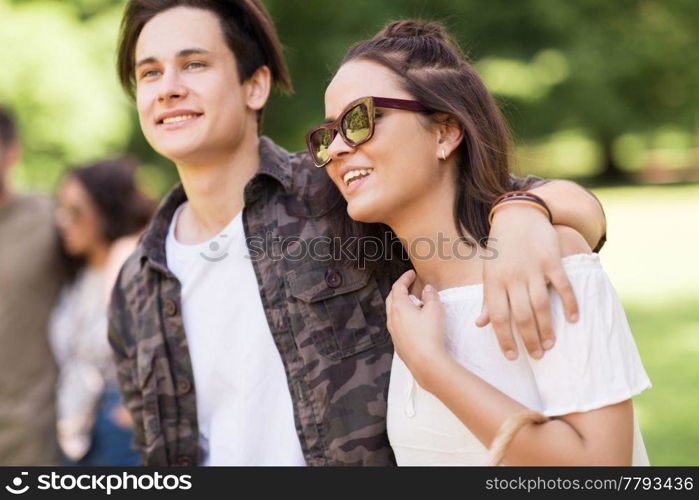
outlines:
[[136, 42], [156, 15], [174, 7], [192, 7], [216, 14], [228, 47], [235, 54], [241, 83], [262, 66], [272, 73], [281, 92], [291, 92], [291, 78], [274, 22], [259, 0], [129, 0], [121, 22], [117, 72], [122, 87], [134, 97]]

